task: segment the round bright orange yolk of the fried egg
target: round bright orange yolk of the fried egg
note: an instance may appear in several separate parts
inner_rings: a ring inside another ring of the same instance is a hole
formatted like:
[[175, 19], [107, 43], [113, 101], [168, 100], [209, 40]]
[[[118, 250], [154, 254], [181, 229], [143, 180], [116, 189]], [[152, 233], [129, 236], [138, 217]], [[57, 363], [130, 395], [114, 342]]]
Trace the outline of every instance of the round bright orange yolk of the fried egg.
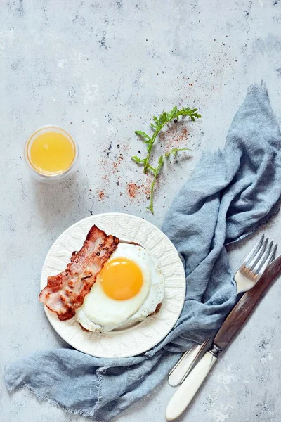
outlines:
[[143, 273], [133, 261], [127, 258], [115, 258], [103, 267], [100, 283], [103, 291], [110, 298], [131, 299], [143, 286]]

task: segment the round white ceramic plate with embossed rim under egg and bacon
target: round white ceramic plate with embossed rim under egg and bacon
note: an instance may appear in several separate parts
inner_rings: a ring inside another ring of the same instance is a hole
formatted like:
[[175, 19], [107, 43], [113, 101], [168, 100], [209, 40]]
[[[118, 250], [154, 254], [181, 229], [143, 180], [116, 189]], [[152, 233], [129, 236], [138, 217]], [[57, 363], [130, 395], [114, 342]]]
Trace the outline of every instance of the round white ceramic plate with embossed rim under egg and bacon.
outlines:
[[93, 224], [107, 234], [139, 243], [159, 260], [159, 269], [165, 279], [162, 307], [157, 314], [130, 328], [102, 334], [81, 330], [75, 318], [60, 321], [56, 314], [45, 307], [48, 320], [63, 340], [92, 356], [129, 357], [146, 352], [174, 327], [185, 299], [185, 273], [181, 259], [169, 238], [153, 224], [134, 215], [117, 212], [93, 215], [73, 224], [53, 243], [46, 256], [41, 273], [41, 289], [46, 286], [48, 276], [65, 269], [72, 251], [81, 248]]

